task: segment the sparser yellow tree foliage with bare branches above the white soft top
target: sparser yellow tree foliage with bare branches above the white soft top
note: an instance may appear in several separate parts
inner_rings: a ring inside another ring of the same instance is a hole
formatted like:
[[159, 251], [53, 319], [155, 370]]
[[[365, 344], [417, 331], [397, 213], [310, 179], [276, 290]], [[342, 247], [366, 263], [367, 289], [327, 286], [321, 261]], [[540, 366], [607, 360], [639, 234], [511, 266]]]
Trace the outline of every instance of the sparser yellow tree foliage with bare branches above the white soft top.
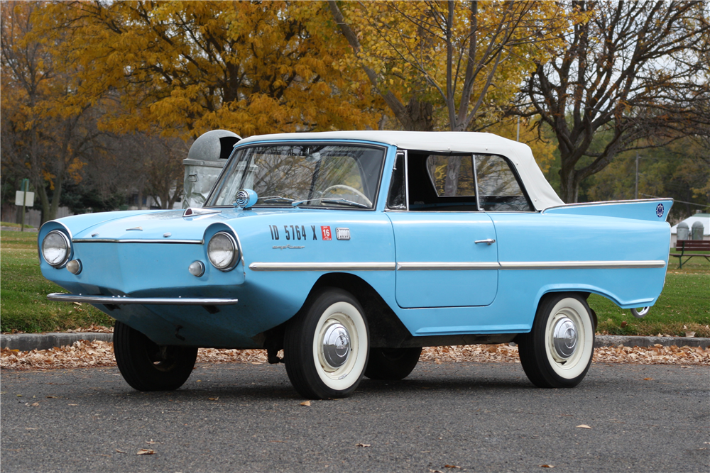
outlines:
[[549, 60], [562, 34], [583, 18], [551, 1], [337, 6], [344, 28], [359, 42], [340, 59], [342, 67], [369, 69], [379, 93], [393, 94], [400, 104], [412, 98], [434, 104], [439, 130], [477, 130], [495, 122], [536, 62]]

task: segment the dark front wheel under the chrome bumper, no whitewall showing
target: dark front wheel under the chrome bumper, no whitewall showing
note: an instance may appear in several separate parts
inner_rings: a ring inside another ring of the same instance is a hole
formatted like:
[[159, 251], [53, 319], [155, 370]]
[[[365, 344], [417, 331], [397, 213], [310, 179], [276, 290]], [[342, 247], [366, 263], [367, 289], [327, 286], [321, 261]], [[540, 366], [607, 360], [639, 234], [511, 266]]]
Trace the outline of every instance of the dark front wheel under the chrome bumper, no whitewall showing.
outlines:
[[128, 325], [114, 326], [114, 355], [124, 379], [138, 391], [173, 391], [195, 367], [197, 348], [157, 345]]

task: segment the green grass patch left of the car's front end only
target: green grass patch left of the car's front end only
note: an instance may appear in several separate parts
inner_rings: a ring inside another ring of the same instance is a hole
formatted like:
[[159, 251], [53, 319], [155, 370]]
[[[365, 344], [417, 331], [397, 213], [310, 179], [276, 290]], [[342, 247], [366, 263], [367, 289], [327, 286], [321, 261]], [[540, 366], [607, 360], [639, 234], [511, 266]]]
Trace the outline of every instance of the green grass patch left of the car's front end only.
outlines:
[[88, 304], [47, 300], [50, 292], [64, 290], [40, 272], [37, 233], [0, 231], [0, 247], [0, 331], [38, 333], [114, 324]]

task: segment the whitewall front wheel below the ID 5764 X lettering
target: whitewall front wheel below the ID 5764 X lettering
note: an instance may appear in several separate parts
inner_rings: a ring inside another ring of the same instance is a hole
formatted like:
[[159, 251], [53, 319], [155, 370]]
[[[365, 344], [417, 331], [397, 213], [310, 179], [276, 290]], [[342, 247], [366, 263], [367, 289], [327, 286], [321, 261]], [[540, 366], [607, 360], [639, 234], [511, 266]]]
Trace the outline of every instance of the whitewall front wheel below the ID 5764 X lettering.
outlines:
[[309, 399], [349, 396], [367, 365], [368, 328], [359, 302], [326, 288], [310, 296], [288, 324], [283, 340], [286, 373]]

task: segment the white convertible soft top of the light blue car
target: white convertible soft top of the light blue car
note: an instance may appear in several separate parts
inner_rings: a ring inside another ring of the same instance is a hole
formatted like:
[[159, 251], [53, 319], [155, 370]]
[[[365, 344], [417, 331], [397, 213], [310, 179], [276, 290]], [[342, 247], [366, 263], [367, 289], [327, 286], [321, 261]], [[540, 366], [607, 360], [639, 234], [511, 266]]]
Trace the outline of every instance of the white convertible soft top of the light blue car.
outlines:
[[395, 145], [403, 150], [430, 152], [470, 152], [508, 157], [518, 169], [520, 179], [528, 191], [532, 205], [538, 211], [564, 205], [552, 189], [528, 145], [508, 140], [492, 133], [466, 131], [325, 131], [322, 133], [279, 133], [256, 135], [241, 140], [237, 145], [271, 140], [363, 140]]

